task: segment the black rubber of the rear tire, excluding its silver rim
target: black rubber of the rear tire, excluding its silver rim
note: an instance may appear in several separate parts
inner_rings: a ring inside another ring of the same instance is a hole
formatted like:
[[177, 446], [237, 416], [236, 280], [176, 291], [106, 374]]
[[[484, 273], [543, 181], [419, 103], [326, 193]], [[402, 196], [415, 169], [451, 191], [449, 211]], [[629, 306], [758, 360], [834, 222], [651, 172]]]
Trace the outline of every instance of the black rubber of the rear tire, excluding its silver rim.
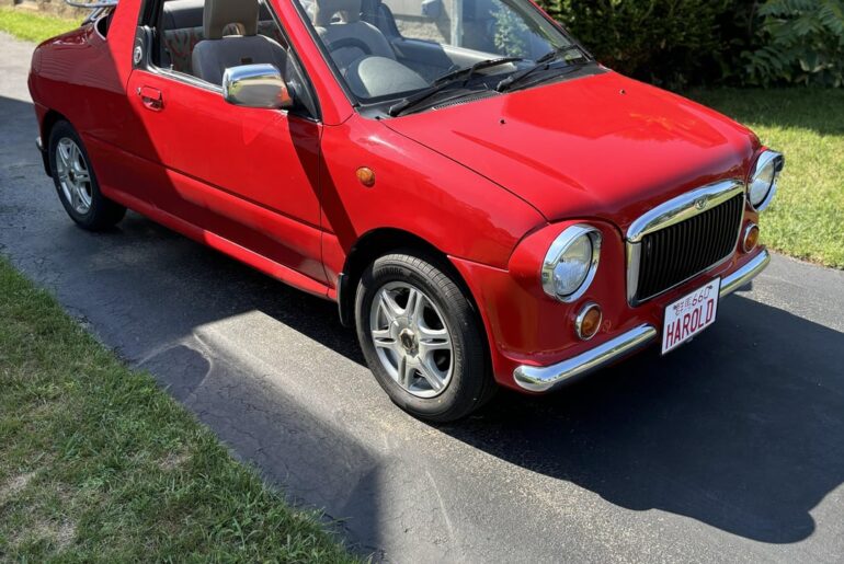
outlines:
[[[62, 188], [62, 180], [58, 169], [57, 151], [59, 143], [65, 139], [72, 141], [76, 147], [79, 148], [79, 153], [90, 177], [90, 189], [87, 192], [90, 193], [89, 196], [91, 202], [87, 211], [76, 209], [73, 203], [65, 193], [65, 188]], [[70, 219], [76, 221], [79, 227], [88, 231], [102, 231], [116, 226], [124, 216], [126, 216], [125, 207], [106, 198], [100, 192], [100, 185], [96, 182], [96, 175], [94, 174], [91, 159], [88, 157], [88, 151], [85, 150], [84, 145], [82, 145], [82, 139], [79, 137], [79, 134], [77, 134], [76, 129], [73, 129], [69, 123], [58, 122], [53, 127], [49, 136], [48, 157], [50, 174], [56, 184], [56, 192], [61, 200], [61, 205], [65, 206], [65, 211], [70, 216]]]

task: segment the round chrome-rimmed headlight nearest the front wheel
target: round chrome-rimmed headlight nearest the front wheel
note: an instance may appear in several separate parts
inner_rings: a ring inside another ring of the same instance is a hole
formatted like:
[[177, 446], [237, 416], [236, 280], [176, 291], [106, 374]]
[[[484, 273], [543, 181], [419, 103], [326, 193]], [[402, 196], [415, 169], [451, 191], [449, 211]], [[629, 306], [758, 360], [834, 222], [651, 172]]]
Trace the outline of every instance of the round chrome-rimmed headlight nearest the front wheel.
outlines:
[[543, 263], [543, 288], [558, 300], [574, 301], [589, 289], [601, 256], [601, 231], [573, 226], [551, 244]]

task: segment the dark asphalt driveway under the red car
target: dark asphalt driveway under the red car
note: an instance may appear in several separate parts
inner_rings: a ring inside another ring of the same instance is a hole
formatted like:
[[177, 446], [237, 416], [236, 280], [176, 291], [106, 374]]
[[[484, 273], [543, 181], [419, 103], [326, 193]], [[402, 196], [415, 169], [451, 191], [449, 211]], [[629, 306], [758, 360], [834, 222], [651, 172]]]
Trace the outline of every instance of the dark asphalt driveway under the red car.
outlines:
[[844, 273], [776, 256], [669, 357], [432, 427], [389, 403], [333, 306], [138, 215], [75, 228], [34, 146], [31, 50], [0, 35], [0, 252], [360, 550], [844, 561]]

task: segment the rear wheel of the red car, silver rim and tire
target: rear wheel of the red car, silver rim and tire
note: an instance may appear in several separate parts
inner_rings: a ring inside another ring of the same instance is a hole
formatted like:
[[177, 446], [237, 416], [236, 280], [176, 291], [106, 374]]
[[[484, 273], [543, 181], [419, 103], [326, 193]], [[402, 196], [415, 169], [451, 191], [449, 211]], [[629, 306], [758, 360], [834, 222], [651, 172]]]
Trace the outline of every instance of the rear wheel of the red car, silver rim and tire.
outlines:
[[126, 208], [100, 193], [91, 160], [82, 140], [67, 122], [59, 122], [49, 136], [49, 168], [65, 210], [89, 231], [117, 225]]

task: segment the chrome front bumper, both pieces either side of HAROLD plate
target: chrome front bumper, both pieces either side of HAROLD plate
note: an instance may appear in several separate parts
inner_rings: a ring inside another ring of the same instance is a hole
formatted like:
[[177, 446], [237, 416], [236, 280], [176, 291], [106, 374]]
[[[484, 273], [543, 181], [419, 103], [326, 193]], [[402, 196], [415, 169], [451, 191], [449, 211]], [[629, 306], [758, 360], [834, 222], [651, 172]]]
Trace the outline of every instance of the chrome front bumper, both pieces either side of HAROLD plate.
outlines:
[[[723, 278], [721, 298], [746, 286], [767, 267], [769, 262], [771, 254], [763, 249], [748, 264]], [[562, 362], [546, 367], [520, 366], [513, 372], [513, 378], [524, 390], [547, 392], [641, 350], [655, 341], [658, 336], [657, 327], [642, 324]]]

